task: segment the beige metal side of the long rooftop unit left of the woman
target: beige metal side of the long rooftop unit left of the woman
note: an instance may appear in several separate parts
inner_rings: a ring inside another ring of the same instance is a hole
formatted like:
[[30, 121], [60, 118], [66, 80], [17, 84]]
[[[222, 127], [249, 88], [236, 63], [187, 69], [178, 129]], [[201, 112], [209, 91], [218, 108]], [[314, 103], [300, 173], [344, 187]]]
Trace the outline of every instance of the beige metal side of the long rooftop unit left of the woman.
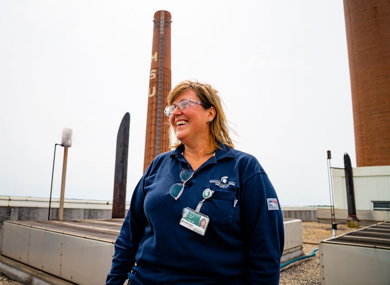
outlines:
[[3, 228], [2, 254], [80, 285], [105, 283], [113, 243], [7, 222]]

